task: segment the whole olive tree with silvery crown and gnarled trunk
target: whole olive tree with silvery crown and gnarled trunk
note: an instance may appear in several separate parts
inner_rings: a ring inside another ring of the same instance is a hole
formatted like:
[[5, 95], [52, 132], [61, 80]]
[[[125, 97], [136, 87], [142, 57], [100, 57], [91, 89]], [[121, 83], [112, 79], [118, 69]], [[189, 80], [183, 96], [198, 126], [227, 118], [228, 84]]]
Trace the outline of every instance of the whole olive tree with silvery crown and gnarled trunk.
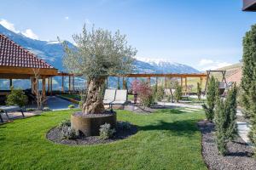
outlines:
[[63, 42], [63, 65], [70, 73], [83, 75], [88, 81], [84, 114], [101, 114], [104, 105], [101, 88], [109, 75], [130, 73], [137, 50], [128, 45], [126, 36], [101, 28], [90, 30], [84, 25], [80, 34], [73, 35], [76, 48]]

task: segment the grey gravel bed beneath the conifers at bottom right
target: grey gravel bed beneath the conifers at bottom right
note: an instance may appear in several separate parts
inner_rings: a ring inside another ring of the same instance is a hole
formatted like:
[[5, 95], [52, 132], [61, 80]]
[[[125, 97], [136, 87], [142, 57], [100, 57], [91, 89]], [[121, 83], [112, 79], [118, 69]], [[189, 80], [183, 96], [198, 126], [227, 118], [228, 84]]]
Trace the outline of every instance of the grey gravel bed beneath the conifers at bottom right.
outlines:
[[209, 169], [222, 170], [255, 170], [256, 158], [253, 157], [253, 148], [247, 145], [240, 137], [227, 144], [230, 151], [227, 156], [218, 154], [215, 143], [214, 125], [210, 122], [199, 122], [202, 139], [202, 156]]

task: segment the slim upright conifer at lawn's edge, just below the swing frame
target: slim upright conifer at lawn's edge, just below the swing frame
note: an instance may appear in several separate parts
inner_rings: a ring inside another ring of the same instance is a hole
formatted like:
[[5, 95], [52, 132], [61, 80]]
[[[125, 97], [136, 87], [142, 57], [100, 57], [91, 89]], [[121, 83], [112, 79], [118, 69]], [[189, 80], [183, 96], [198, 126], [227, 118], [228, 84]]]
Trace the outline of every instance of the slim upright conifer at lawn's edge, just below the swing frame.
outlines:
[[206, 112], [207, 120], [212, 122], [214, 118], [214, 106], [218, 97], [218, 81], [212, 76], [207, 86], [207, 105], [202, 105]]

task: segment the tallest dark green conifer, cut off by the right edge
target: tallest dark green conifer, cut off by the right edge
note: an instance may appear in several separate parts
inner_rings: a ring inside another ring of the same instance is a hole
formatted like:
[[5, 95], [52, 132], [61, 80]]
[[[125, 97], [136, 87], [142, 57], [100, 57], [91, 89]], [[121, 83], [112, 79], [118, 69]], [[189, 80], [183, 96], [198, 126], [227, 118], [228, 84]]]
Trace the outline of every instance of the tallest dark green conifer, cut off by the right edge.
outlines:
[[242, 61], [242, 106], [250, 116], [250, 137], [256, 144], [256, 25], [243, 37]]

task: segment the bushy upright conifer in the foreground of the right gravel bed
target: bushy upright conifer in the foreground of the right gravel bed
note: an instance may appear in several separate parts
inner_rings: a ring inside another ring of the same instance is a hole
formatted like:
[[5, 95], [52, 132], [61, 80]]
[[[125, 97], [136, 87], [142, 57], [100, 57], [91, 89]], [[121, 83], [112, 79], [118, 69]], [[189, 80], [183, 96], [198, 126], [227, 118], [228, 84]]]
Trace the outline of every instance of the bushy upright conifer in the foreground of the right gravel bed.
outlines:
[[225, 100], [217, 98], [215, 109], [215, 126], [217, 135], [218, 151], [222, 155], [226, 155], [227, 143], [235, 139], [237, 135], [236, 127], [236, 86], [228, 91]]

